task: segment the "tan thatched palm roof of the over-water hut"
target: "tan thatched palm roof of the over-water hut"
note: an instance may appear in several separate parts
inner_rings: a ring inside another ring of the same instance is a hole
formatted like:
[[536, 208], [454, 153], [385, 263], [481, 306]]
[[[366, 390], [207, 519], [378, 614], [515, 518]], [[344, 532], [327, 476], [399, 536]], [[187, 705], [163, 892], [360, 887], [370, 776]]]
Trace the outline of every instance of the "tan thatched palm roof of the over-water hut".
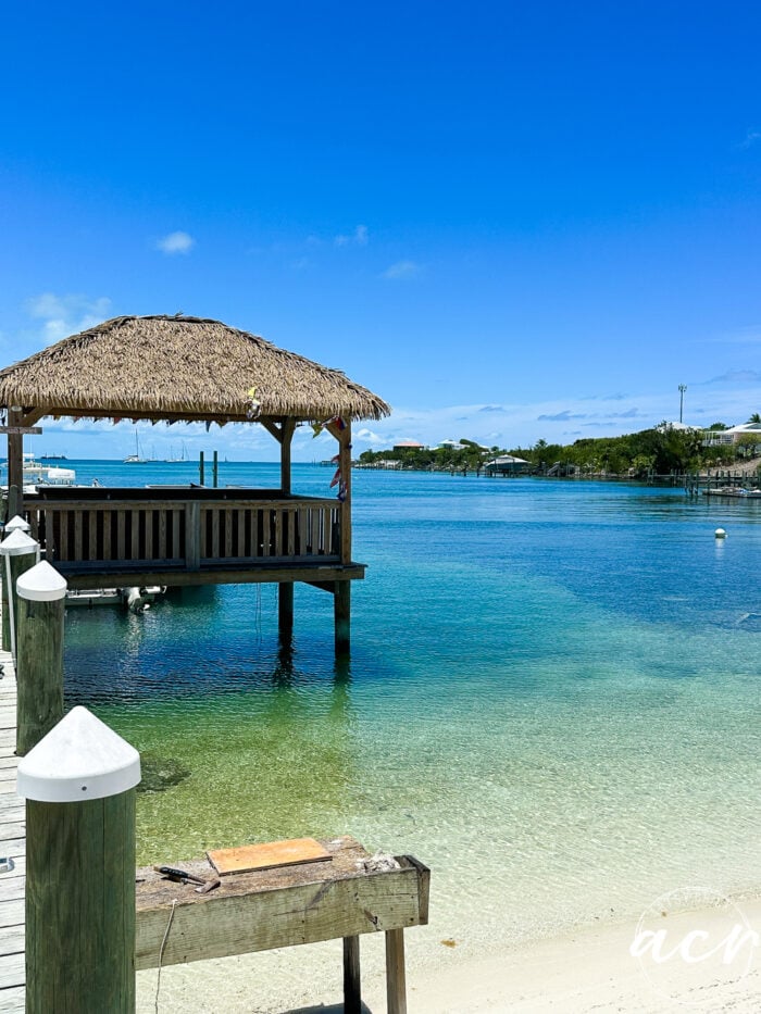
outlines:
[[245, 421], [382, 418], [389, 406], [338, 370], [188, 316], [115, 317], [0, 371], [0, 405], [46, 415]]

